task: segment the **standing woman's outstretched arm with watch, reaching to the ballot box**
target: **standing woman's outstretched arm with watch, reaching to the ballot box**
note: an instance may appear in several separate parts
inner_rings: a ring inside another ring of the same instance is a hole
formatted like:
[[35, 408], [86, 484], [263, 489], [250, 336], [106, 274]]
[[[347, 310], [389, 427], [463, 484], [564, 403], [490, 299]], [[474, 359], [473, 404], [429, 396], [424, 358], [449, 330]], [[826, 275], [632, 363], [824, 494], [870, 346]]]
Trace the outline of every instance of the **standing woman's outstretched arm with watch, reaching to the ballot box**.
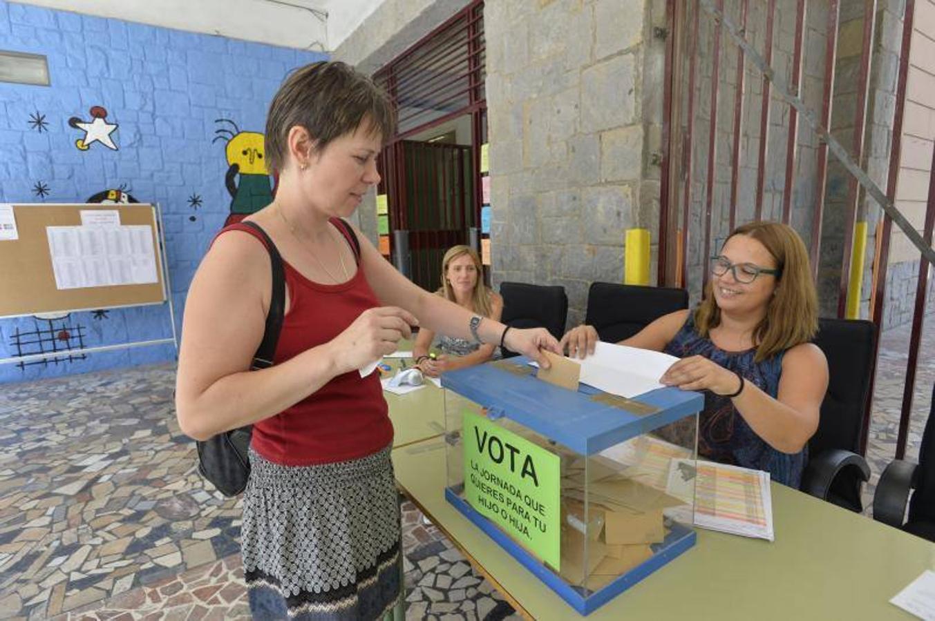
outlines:
[[[373, 244], [361, 233], [357, 233], [361, 247], [361, 266], [367, 276], [370, 288], [377, 294], [381, 303], [405, 308], [419, 318], [419, 325], [432, 332], [440, 332], [461, 339], [473, 340], [470, 332], [470, 318], [474, 316], [465, 308], [449, 302], [439, 295], [421, 289], [405, 276], [399, 274], [389, 261], [383, 259]], [[506, 329], [499, 321], [483, 318], [478, 326], [482, 343], [499, 345], [500, 337]], [[544, 328], [511, 330], [507, 333], [506, 344], [513, 351], [528, 356], [545, 368], [549, 361], [539, 349], [548, 349], [558, 353], [558, 342]]]

